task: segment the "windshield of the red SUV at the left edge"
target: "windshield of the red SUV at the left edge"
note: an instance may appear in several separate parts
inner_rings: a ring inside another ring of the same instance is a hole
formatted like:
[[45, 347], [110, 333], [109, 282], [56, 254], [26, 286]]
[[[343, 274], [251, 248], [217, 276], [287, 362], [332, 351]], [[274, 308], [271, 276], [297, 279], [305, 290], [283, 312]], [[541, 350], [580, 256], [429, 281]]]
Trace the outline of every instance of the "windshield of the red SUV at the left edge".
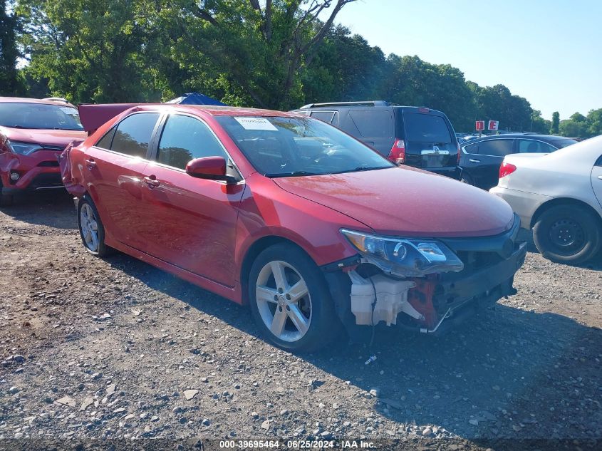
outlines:
[[47, 103], [0, 103], [0, 125], [43, 130], [83, 130], [76, 108]]

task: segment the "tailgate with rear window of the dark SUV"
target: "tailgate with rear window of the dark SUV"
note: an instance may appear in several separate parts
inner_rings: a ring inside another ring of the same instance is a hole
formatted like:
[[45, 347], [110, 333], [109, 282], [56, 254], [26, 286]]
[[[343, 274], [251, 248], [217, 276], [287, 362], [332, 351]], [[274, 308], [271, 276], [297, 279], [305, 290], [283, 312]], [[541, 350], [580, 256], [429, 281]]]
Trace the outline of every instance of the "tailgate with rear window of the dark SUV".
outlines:
[[457, 165], [457, 140], [444, 116], [403, 112], [405, 162], [432, 170]]

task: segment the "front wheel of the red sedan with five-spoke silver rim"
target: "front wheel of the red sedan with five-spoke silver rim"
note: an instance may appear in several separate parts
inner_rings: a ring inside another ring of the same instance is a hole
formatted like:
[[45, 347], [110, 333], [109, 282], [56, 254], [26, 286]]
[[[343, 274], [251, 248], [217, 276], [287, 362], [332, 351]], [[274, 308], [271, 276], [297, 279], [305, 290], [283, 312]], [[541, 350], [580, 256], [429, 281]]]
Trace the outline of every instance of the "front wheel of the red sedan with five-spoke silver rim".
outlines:
[[338, 318], [320, 269], [292, 244], [276, 244], [257, 256], [249, 300], [256, 323], [281, 348], [315, 351], [336, 330]]

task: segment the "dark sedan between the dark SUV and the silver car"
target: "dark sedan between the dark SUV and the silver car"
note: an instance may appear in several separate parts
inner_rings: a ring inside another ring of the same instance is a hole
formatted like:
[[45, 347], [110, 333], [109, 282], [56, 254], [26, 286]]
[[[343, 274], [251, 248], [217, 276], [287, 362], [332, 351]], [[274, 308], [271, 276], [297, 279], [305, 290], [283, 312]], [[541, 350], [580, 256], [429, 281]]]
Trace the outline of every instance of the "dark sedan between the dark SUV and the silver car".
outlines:
[[550, 153], [576, 140], [562, 136], [507, 133], [493, 135], [462, 144], [460, 180], [484, 190], [497, 185], [499, 167], [511, 153]]

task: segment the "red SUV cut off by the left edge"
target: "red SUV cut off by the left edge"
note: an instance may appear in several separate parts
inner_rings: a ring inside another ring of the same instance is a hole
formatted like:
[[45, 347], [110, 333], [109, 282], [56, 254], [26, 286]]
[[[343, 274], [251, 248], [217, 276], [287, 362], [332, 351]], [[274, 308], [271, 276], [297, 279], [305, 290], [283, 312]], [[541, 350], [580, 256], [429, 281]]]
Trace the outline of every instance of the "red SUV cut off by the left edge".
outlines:
[[28, 190], [62, 188], [57, 157], [85, 136], [70, 103], [0, 97], [0, 205]]

